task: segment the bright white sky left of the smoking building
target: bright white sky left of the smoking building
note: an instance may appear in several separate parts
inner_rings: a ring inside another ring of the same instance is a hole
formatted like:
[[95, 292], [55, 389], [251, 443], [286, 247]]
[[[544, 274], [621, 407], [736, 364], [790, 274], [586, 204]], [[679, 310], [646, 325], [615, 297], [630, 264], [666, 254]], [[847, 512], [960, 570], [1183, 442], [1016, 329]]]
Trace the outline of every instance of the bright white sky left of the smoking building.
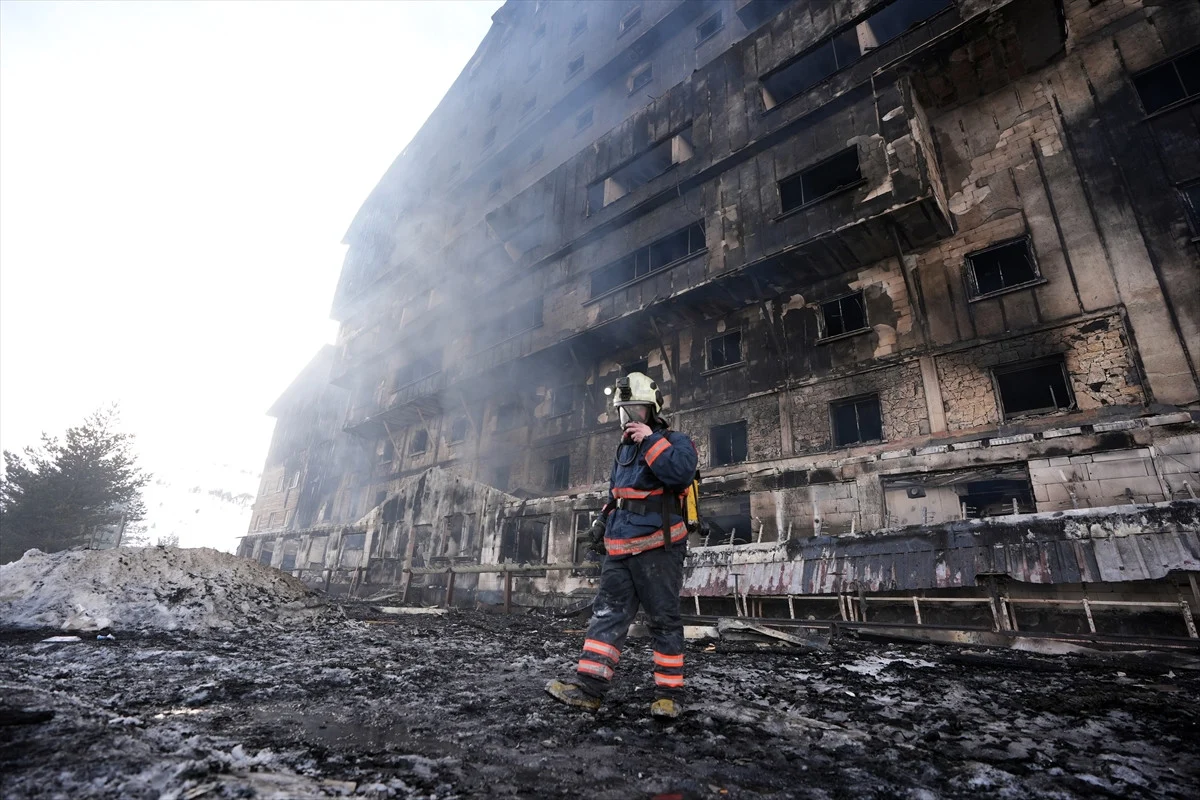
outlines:
[[[0, 0], [0, 445], [258, 473], [342, 235], [502, 0]], [[240, 531], [239, 531], [240, 533]]]

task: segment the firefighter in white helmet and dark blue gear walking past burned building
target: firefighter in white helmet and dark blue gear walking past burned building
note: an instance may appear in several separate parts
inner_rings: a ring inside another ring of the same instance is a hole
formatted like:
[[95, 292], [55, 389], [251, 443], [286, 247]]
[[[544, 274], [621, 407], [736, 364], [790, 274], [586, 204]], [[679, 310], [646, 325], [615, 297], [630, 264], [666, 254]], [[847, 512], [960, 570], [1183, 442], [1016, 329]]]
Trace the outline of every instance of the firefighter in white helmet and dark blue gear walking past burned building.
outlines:
[[640, 372], [617, 380], [612, 404], [622, 439], [608, 480], [608, 503], [588, 536], [605, 553], [600, 591], [592, 606], [583, 654], [570, 680], [552, 680], [558, 700], [596, 710], [638, 606], [654, 643], [655, 700], [650, 714], [679, 715], [683, 690], [683, 621], [679, 590], [688, 549], [686, 495], [696, 475], [696, 447], [660, 416], [662, 392]]

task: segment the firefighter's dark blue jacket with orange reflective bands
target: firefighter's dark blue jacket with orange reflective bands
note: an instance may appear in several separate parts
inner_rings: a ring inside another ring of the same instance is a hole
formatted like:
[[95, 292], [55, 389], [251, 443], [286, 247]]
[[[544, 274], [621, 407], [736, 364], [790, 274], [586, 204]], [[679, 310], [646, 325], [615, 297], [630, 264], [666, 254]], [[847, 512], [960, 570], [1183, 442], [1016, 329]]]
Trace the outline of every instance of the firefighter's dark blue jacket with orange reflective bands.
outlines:
[[662, 535], [662, 499], [670, 500], [671, 541], [688, 537], [679, 501], [696, 475], [696, 446], [682, 433], [660, 428], [640, 445], [622, 441], [608, 480], [610, 503], [631, 501], [632, 509], [610, 512], [604, 543], [608, 558], [636, 555], [666, 545]]

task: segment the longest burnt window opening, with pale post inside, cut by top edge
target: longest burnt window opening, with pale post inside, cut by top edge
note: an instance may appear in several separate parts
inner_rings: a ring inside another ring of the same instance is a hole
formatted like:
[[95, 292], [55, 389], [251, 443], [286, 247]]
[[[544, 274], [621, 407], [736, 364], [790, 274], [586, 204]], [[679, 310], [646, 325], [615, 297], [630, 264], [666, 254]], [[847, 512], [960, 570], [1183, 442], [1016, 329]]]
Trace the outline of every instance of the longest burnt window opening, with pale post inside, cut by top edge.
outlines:
[[857, 25], [838, 31], [762, 78], [763, 108], [770, 110], [804, 94], [950, 5], [950, 0], [896, 0]]

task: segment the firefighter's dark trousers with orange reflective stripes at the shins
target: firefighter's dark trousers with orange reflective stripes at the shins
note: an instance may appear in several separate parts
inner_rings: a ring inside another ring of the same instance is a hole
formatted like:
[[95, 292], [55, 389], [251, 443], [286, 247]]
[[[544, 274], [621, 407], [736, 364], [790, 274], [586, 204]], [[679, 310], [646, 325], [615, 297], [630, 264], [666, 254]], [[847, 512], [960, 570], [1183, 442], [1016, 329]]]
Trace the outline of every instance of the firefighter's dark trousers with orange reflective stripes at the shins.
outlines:
[[620, 661], [629, 626], [638, 607], [646, 610], [654, 644], [658, 697], [674, 698], [683, 688], [683, 620], [679, 590], [686, 542], [655, 547], [636, 555], [605, 558], [600, 591], [576, 672], [583, 691], [602, 697]]

